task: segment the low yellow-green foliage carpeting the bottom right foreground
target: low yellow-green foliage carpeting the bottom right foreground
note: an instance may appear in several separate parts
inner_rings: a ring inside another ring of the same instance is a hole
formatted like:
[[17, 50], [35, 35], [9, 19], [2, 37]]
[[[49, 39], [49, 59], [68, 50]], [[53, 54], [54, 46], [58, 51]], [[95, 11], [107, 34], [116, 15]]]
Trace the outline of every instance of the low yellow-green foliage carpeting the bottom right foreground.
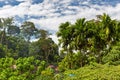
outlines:
[[93, 63], [77, 70], [66, 70], [55, 75], [51, 75], [50, 70], [43, 71], [43, 75], [40, 75], [35, 80], [119, 80], [119, 70], [120, 66]]

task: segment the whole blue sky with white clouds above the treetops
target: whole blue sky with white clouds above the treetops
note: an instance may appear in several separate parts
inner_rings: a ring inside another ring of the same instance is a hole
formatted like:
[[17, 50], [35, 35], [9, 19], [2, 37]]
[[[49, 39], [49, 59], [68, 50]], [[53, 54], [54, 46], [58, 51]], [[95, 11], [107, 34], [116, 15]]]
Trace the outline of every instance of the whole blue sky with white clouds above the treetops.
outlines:
[[93, 19], [96, 15], [109, 14], [120, 20], [120, 0], [0, 0], [0, 17], [14, 17], [16, 24], [34, 22], [38, 29], [48, 30], [58, 43], [59, 25], [76, 19]]

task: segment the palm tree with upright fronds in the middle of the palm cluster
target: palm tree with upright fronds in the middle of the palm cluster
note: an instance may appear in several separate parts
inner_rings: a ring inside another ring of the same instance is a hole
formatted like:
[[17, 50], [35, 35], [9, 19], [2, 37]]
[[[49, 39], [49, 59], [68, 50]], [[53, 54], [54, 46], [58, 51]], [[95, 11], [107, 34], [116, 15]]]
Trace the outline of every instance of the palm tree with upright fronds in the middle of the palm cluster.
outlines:
[[77, 50], [83, 49], [86, 45], [86, 21], [85, 18], [78, 19], [75, 23], [75, 31], [73, 33], [75, 47]]

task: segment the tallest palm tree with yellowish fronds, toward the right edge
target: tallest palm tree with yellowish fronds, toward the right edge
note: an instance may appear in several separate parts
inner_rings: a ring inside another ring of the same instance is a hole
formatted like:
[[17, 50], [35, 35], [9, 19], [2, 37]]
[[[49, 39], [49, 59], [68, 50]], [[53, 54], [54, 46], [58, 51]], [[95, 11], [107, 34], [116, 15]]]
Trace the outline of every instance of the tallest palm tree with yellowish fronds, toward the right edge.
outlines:
[[115, 20], [112, 20], [109, 15], [104, 13], [101, 16], [101, 30], [103, 31], [101, 33], [103, 33], [103, 38], [106, 39], [108, 43], [114, 38], [115, 25]]

